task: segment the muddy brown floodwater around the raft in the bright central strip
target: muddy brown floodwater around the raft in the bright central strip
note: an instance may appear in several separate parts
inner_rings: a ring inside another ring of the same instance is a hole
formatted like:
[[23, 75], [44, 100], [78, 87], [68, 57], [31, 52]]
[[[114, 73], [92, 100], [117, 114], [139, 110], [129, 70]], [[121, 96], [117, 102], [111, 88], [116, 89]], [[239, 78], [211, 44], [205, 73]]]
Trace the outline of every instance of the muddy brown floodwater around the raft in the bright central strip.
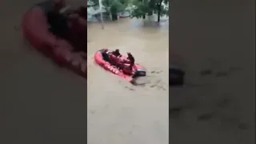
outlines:
[[[88, 143], [168, 143], [168, 22], [124, 18], [88, 26]], [[131, 52], [146, 66], [145, 86], [132, 86], [94, 63], [102, 48]]]

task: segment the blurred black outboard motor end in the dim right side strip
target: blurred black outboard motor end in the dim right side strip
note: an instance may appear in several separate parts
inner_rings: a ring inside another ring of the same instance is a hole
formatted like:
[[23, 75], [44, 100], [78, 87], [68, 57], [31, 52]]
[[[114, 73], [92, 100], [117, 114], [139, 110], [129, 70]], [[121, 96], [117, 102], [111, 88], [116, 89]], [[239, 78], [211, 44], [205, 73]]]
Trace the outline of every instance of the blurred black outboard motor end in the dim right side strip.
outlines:
[[169, 85], [170, 86], [182, 86], [184, 84], [185, 72], [176, 67], [169, 69]]

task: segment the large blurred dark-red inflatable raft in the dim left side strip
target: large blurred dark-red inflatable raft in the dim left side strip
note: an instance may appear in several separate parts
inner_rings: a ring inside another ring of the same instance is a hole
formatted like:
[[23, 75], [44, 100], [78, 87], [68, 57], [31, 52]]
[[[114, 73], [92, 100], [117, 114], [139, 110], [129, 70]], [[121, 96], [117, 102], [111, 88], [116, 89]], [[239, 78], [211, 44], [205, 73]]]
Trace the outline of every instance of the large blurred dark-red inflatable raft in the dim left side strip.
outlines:
[[[74, 34], [74, 28], [78, 27], [77, 25], [73, 25], [73, 28], [70, 28], [70, 33], [73, 32]], [[49, 28], [50, 26], [47, 22], [46, 14], [41, 7], [34, 6], [23, 15], [22, 32], [23, 36], [30, 44], [36, 50], [45, 54], [46, 57], [52, 58], [59, 66], [74, 70], [76, 73], [86, 78], [86, 53], [82, 51], [74, 52], [74, 45], [71, 45], [66, 39], [57, 38], [49, 31]], [[86, 29], [86, 27], [84, 29]], [[83, 30], [84, 37], [82, 37], [81, 31], [80, 29], [78, 37], [80, 37], [80, 39], [83, 38], [80, 42], [84, 44], [86, 42], [86, 30]]]

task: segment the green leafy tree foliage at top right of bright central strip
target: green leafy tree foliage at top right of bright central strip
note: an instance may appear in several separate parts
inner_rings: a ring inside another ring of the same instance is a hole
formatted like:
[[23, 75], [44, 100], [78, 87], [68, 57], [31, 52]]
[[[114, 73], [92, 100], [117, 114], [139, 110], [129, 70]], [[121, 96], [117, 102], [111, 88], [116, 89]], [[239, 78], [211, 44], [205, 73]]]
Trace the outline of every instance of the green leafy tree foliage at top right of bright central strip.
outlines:
[[169, 13], [168, 8], [162, 3], [167, 6], [169, 0], [133, 0], [134, 9], [131, 15], [135, 18], [145, 18], [146, 15], [150, 16], [157, 13], [158, 22], [160, 22], [160, 17]]

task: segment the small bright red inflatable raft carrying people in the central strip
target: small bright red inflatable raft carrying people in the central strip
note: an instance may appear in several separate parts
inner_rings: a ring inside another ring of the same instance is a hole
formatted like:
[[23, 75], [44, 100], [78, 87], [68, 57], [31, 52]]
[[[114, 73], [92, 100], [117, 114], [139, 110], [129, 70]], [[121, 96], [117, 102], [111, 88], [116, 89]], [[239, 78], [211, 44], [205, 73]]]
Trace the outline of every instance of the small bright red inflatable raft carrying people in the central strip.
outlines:
[[[105, 60], [102, 55], [103, 53], [106, 53], [107, 56], [110, 57], [110, 51], [106, 51], [106, 49], [102, 49], [102, 50], [98, 50], [94, 54], [94, 60], [99, 66], [102, 66], [102, 68], [104, 68], [105, 70], [108, 70], [111, 73], [116, 74], [122, 78], [125, 78], [129, 82], [134, 82], [134, 79], [138, 77], [146, 76], [146, 69], [143, 66], [139, 65], [138, 63], [134, 64], [134, 66], [132, 67], [131, 73], [126, 73], [125, 71], [127, 71], [128, 69], [130, 70], [130, 67], [129, 67], [130, 65], [128, 63], [125, 63], [125, 62], [122, 63], [123, 68], [121, 70], [117, 66], [112, 65], [110, 61]], [[120, 59], [127, 59], [127, 58], [122, 55], [118, 57], [118, 59], [120, 60]]]

